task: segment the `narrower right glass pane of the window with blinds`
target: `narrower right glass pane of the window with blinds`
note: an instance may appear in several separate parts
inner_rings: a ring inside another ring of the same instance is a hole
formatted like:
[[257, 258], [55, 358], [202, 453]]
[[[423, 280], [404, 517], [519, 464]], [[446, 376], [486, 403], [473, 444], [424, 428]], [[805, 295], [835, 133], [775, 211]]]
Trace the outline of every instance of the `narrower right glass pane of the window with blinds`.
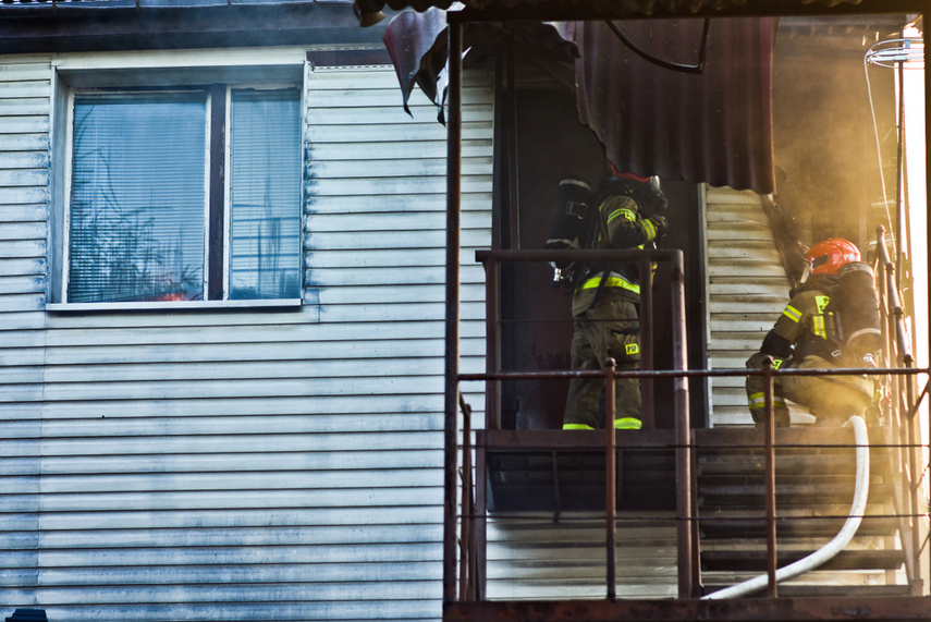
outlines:
[[301, 93], [234, 89], [230, 298], [299, 295]]

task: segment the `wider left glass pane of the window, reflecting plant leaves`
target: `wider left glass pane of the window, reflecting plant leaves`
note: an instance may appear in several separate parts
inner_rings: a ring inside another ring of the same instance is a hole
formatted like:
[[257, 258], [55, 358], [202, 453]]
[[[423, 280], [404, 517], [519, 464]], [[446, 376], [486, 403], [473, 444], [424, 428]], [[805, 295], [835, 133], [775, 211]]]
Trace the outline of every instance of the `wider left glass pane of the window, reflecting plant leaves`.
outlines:
[[78, 95], [70, 302], [204, 297], [206, 95]]

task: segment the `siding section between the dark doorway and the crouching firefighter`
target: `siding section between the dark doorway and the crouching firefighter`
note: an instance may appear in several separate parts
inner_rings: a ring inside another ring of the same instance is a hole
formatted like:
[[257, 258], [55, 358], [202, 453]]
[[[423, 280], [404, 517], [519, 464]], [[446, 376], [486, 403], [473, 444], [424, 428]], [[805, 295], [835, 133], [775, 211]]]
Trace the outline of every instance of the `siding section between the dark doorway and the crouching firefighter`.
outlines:
[[[788, 302], [792, 286], [760, 195], [705, 186], [708, 358], [711, 369], [743, 368]], [[712, 378], [713, 426], [752, 425], [744, 378]]]

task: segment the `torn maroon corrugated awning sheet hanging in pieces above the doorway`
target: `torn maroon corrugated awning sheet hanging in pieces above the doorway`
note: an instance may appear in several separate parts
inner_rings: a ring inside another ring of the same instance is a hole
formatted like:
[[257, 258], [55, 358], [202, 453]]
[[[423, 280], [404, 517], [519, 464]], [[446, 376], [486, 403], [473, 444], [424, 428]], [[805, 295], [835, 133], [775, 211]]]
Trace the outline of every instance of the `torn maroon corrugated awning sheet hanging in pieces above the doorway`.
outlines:
[[[768, 194], [774, 190], [776, 23], [742, 17], [538, 27], [560, 40], [566, 60], [575, 57], [579, 121], [618, 169]], [[445, 40], [445, 12], [439, 9], [403, 12], [389, 24], [384, 42], [405, 109], [415, 83], [442, 106]]]

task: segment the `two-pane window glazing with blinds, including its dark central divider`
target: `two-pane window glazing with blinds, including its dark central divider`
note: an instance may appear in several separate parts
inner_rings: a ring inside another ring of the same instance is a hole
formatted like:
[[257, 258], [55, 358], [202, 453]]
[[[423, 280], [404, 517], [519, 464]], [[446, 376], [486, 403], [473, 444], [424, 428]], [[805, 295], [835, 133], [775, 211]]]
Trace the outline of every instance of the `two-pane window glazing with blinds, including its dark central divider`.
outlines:
[[301, 92], [75, 93], [69, 303], [299, 297]]

